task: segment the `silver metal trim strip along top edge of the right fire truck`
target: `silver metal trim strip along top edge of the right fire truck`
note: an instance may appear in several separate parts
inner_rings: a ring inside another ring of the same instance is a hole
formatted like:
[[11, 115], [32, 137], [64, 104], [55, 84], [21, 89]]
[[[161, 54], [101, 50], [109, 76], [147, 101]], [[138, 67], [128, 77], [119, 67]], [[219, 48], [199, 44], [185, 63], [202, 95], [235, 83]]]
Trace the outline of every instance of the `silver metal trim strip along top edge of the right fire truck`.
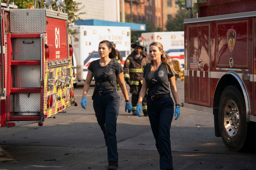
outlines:
[[245, 18], [245, 17], [255, 17], [255, 16], [256, 16], [256, 11], [242, 12], [242, 13], [237, 13], [237, 14], [226, 14], [226, 15], [217, 15], [217, 16], [211, 16], [211, 17], [201, 17], [201, 18], [185, 19], [183, 24], [194, 23], [194, 22], [230, 20], [230, 19], [238, 19], [238, 18]]

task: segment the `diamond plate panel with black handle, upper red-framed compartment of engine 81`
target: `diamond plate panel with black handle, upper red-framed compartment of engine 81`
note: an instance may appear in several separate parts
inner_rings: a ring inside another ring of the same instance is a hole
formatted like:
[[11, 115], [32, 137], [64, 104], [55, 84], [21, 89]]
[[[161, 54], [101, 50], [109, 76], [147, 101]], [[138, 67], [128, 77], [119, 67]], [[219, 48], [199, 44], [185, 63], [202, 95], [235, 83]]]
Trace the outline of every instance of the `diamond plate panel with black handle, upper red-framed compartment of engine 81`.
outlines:
[[13, 46], [13, 60], [40, 60], [40, 38], [13, 38]]

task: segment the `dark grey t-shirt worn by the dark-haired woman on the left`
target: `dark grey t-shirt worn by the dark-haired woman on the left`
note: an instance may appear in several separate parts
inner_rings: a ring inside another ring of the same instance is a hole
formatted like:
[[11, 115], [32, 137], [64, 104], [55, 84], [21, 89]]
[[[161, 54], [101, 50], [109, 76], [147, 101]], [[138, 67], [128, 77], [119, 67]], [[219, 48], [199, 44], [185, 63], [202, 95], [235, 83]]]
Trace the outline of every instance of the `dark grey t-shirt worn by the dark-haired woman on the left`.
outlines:
[[[123, 67], [117, 61], [112, 61], [113, 65], [108, 71], [108, 78], [100, 84], [98, 90], [110, 90], [116, 89], [116, 75], [119, 75], [121, 72], [124, 72]], [[90, 63], [88, 70], [93, 72], [93, 77], [95, 80], [95, 84], [97, 84], [101, 79], [102, 75], [107, 71], [110, 63], [106, 66], [101, 66], [99, 64], [99, 59], [94, 60]]]

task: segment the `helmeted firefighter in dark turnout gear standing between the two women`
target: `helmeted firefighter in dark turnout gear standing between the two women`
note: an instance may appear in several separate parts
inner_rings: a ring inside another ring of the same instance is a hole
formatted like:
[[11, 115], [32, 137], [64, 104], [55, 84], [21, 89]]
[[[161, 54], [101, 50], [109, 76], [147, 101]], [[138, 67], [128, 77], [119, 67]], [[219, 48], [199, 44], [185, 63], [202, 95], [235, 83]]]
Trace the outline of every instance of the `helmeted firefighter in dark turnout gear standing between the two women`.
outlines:
[[[130, 54], [124, 63], [124, 79], [130, 86], [130, 93], [132, 93], [132, 115], [136, 114], [136, 106], [139, 98], [140, 89], [143, 80], [143, 68], [149, 63], [149, 58], [143, 53], [144, 46], [143, 41], [135, 41], [131, 45], [134, 48], [132, 54]], [[142, 110], [144, 116], [148, 115], [146, 95], [142, 101]]]

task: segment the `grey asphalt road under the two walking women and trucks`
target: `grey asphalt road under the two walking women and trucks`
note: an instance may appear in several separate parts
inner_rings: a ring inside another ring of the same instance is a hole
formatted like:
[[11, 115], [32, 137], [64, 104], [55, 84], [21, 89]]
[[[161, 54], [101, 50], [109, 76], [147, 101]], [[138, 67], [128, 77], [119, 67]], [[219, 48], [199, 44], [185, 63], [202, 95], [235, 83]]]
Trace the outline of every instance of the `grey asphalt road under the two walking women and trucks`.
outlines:
[[[176, 81], [179, 100], [184, 101], [184, 82]], [[75, 88], [77, 107], [48, 118], [42, 127], [30, 124], [0, 128], [0, 170], [59, 169], [105, 170], [107, 148], [97, 124], [90, 95], [87, 109], [80, 106], [83, 83]], [[119, 170], [159, 170], [159, 155], [148, 117], [124, 112], [118, 91], [117, 121]], [[232, 152], [214, 135], [213, 114], [181, 108], [170, 130], [175, 170], [255, 170], [256, 154]], [[254, 144], [252, 144], [253, 147]]]

